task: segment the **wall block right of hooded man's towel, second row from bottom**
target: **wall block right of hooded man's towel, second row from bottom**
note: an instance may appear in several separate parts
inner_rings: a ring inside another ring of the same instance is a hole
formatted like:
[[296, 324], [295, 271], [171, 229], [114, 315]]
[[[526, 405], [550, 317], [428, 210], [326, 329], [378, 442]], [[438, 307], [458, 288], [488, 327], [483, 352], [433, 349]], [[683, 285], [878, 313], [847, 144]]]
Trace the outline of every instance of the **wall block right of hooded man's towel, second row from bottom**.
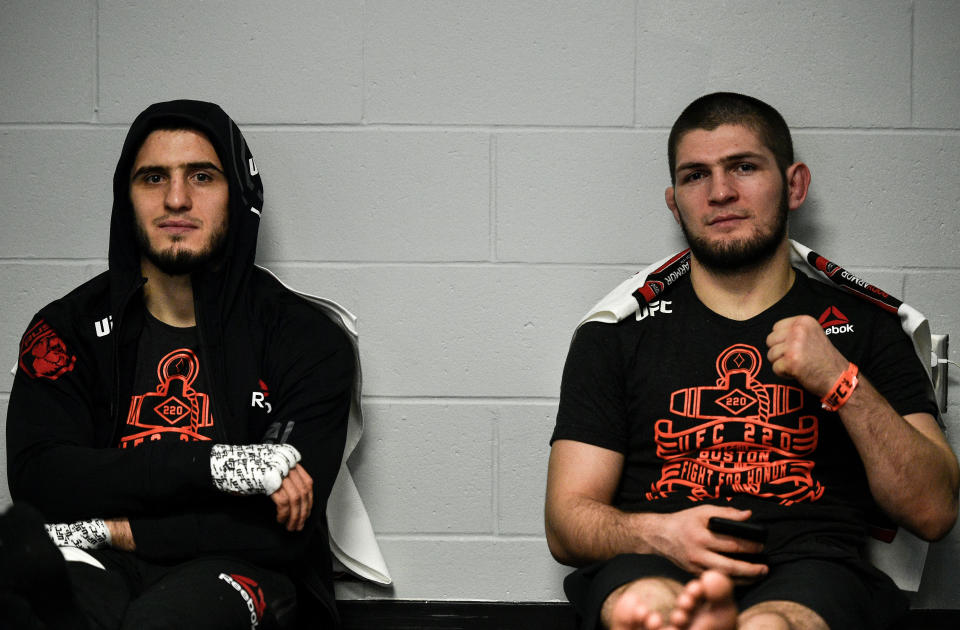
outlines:
[[493, 530], [493, 412], [449, 402], [366, 401], [350, 461], [379, 534]]

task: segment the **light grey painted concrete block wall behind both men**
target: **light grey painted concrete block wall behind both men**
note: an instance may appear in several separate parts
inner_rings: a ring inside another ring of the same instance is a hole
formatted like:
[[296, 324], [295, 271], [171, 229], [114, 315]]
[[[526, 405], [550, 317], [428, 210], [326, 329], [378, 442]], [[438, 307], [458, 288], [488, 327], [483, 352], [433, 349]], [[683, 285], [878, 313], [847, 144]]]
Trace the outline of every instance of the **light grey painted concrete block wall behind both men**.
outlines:
[[[779, 108], [813, 171], [794, 236], [960, 340], [960, 3], [0, 9], [0, 365], [37, 308], [104, 268], [136, 113], [221, 103], [266, 187], [261, 262], [360, 317], [352, 467], [395, 584], [343, 597], [562, 598], [542, 503], [567, 343], [595, 299], [681, 248], [665, 143], [700, 94]], [[0, 419], [10, 383], [5, 368]], [[956, 369], [950, 388], [960, 447]], [[916, 606], [960, 608], [958, 559], [960, 532], [934, 545]]]

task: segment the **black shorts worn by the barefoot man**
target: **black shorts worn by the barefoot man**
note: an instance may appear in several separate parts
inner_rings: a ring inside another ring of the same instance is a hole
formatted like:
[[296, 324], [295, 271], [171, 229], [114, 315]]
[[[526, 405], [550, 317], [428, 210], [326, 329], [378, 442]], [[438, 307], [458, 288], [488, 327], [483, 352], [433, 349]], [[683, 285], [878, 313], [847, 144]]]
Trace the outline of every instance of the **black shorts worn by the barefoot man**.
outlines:
[[[600, 608], [616, 588], [644, 577], [665, 577], [681, 584], [693, 576], [653, 555], [623, 554], [574, 571], [563, 582], [567, 599], [583, 630], [600, 626]], [[761, 602], [796, 602], [819, 614], [834, 629], [878, 630], [892, 626], [909, 602], [893, 581], [866, 563], [795, 559], [771, 564], [767, 576], [735, 591], [741, 610]]]

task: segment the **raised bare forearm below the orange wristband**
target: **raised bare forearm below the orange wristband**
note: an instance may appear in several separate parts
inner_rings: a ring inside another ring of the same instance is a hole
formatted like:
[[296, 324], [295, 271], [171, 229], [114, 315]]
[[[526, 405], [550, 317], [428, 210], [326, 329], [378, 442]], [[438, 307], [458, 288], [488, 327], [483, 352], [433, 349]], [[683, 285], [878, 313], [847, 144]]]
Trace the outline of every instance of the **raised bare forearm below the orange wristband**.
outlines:
[[960, 486], [947, 443], [907, 422], [862, 375], [839, 414], [877, 504], [922, 538], [945, 536], [957, 517]]

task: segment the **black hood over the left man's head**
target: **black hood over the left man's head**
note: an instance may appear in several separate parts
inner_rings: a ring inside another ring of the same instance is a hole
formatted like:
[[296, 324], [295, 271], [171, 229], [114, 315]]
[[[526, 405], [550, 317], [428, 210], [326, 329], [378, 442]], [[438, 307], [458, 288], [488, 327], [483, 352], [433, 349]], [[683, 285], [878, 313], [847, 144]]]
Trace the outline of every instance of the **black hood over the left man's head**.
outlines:
[[[223, 264], [194, 272], [194, 290], [205, 301], [214, 298], [228, 307], [253, 268], [257, 231], [263, 209], [263, 185], [253, 155], [236, 123], [214, 103], [176, 100], [154, 103], [145, 109], [127, 132], [113, 176], [113, 214], [110, 220], [110, 271], [115, 291], [130, 290], [140, 278], [140, 251], [130, 203], [130, 171], [144, 140], [157, 129], [192, 129], [213, 145], [229, 182], [229, 226]], [[114, 304], [118, 304], [115, 296]]]

